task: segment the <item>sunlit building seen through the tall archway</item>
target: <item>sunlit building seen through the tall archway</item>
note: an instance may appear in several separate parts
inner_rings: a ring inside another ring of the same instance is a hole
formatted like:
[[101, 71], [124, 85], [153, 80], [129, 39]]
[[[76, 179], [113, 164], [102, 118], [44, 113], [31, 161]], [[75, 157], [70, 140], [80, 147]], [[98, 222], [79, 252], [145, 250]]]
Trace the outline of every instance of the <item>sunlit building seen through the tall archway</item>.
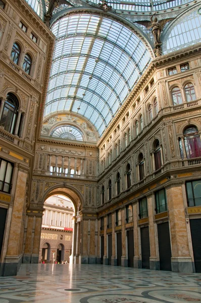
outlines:
[[45, 200], [39, 251], [41, 262], [70, 263], [73, 216], [74, 206], [68, 197], [55, 194]]

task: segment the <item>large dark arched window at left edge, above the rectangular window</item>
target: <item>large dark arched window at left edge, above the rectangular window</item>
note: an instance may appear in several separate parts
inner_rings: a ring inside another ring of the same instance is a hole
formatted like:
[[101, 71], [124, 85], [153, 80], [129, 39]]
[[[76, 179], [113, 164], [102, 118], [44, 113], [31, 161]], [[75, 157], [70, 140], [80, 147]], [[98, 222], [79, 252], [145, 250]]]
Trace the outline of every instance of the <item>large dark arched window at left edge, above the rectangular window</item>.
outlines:
[[0, 127], [10, 132], [11, 134], [14, 134], [15, 132], [18, 109], [19, 102], [17, 97], [13, 93], [9, 92], [4, 104]]

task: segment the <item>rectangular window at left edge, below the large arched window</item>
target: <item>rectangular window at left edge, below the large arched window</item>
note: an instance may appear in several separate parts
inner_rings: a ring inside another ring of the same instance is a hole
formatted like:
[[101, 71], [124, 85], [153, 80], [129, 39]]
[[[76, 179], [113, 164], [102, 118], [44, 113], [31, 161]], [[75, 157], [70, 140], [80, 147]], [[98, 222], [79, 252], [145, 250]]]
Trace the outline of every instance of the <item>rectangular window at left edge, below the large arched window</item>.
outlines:
[[0, 158], [0, 191], [11, 192], [14, 164]]

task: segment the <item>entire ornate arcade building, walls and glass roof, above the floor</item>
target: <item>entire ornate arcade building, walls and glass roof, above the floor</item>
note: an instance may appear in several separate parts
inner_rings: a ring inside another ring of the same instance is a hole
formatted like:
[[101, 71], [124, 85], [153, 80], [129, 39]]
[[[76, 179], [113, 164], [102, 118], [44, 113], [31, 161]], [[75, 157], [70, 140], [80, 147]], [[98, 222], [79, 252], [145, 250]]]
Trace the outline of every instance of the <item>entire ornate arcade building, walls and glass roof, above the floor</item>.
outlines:
[[200, 12], [0, 0], [1, 275], [201, 271]]

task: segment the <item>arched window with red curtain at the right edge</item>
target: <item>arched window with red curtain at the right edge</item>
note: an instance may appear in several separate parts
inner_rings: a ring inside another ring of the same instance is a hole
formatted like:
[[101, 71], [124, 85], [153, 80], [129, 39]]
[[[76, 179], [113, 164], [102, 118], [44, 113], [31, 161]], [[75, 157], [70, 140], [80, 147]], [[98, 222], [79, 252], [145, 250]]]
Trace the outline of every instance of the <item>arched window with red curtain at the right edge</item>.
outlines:
[[[184, 145], [188, 159], [201, 157], [201, 140], [195, 126], [190, 126], [184, 131]], [[181, 144], [180, 144], [181, 146]]]

